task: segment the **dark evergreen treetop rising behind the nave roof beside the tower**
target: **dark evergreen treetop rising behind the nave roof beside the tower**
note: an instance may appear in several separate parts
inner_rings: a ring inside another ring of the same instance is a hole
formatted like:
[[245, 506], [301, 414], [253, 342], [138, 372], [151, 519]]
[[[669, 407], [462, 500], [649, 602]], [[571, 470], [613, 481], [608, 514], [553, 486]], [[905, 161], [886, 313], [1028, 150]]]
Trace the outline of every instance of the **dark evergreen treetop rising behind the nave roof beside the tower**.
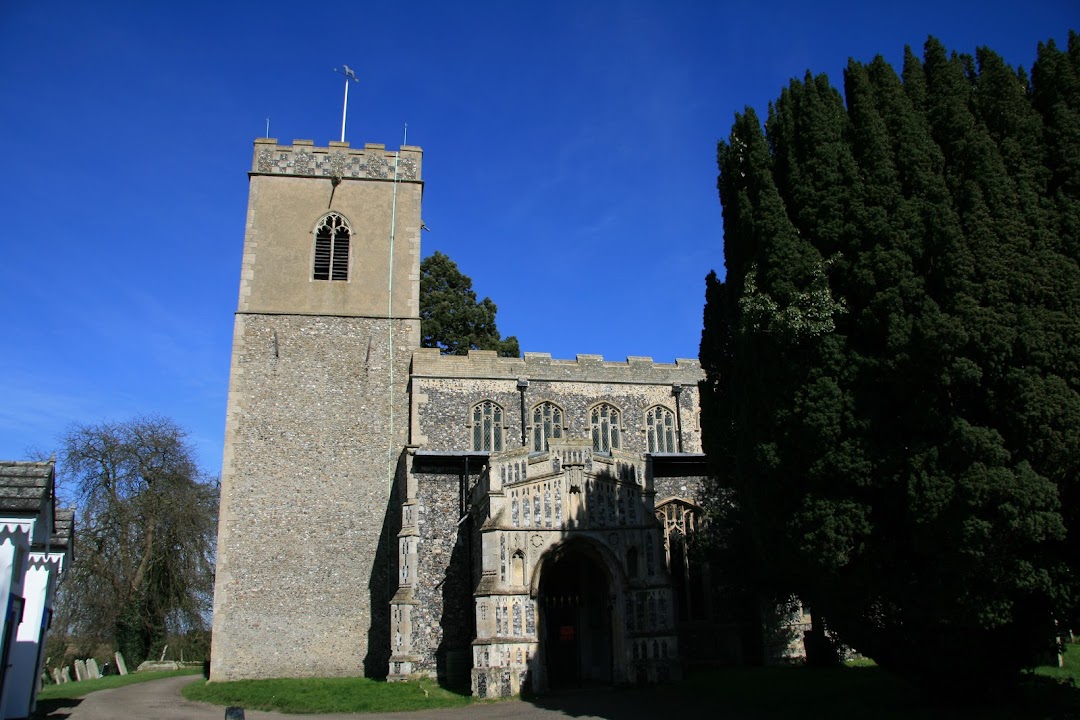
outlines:
[[517, 338], [499, 335], [497, 310], [491, 298], [476, 300], [472, 279], [446, 255], [436, 250], [420, 262], [421, 347], [438, 348], [448, 355], [495, 350], [503, 357], [517, 357]]

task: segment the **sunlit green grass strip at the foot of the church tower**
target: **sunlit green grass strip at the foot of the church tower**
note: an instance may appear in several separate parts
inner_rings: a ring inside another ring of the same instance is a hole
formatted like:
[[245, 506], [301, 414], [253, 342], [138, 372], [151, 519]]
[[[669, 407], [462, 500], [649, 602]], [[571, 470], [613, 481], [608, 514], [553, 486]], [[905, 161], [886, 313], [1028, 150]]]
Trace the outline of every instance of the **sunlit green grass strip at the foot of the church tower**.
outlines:
[[367, 678], [308, 678], [193, 682], [188, 699], [279, 712], [400, 712], [462, 707], [473, 702], [433, 680], [380, 682]]

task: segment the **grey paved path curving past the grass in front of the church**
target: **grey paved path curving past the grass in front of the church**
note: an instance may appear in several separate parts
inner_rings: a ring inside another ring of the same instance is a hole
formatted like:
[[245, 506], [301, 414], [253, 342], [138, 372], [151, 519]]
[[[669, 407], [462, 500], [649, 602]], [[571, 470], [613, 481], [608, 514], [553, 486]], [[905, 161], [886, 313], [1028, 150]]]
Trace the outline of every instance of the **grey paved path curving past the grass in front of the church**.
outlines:
[[[222, 720], [225, 708], [192, 703], [180, 697], [180, 688], [199, 680], [180, 676], [139, 682], [123, 688], [99, 690], [44, 716], [49, 720]], [[245, 720], [656, 720], [676, 712], [717, 718], [716, 708], [690, 707], [685, 698], [675, 701], [662, 691], [599, 690], [542, 697], [532, 702], [505, 701], [469, 707], [418, 712], [283, 715], [246, 710]], [[738, 720], [725, 716], [727, 720]]]

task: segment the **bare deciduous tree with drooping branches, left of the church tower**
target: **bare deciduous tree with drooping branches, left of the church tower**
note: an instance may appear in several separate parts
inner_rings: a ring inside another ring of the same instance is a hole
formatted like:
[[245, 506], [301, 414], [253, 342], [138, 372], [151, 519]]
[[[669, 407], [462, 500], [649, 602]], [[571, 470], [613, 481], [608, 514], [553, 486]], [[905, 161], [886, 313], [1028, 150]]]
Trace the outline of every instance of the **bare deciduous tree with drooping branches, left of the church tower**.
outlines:
[[168, 633], [203, 629], [214, 590], [218, 480], [166, 418], [72, 425], [62, 488], [78, 505], [76, 561], [57, 620], [138, 662]]

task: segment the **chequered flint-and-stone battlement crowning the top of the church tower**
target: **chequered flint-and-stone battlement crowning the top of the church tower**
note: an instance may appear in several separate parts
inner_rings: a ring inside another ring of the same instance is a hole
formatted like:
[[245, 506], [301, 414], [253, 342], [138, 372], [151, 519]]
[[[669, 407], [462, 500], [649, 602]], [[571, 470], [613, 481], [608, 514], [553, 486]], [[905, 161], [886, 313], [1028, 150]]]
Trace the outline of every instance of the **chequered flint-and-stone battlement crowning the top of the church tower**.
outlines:
[[420, 181], [423, 150], [415, 145], [403, 145], [399, 152], [400, 159], [399, 153], [377, 142], [350, 148], [348, 142], [332, 141], [329, 147], [316, 148], [313, 140], [279, 145], [276, 138], [260, 137], [255, 140], [252, 174], [393, 180], [394, 162], [397, 161], [399, 181]]

